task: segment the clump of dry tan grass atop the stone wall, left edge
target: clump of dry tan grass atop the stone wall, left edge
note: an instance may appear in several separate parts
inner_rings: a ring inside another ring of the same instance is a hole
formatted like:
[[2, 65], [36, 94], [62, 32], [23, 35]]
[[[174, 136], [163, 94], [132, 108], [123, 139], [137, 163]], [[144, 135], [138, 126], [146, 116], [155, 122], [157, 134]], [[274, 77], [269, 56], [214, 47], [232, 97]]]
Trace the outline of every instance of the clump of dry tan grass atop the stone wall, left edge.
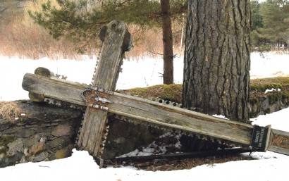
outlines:
[[20, 116], [20, 108], [17, 104], [8, 101], [0, 101], [0, 118], [14, 121]]

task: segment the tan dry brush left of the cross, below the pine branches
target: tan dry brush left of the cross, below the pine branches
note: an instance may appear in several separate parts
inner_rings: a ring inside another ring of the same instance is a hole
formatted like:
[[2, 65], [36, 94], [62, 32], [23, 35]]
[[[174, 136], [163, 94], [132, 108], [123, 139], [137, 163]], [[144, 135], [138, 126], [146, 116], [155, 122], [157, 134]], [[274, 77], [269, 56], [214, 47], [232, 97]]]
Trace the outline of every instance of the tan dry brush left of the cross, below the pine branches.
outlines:
[[53, 39], [43, 27], [18, 17], [0, 34], [0, 54], [21, 58], [79, 58], [76, 46], [68, 40]]

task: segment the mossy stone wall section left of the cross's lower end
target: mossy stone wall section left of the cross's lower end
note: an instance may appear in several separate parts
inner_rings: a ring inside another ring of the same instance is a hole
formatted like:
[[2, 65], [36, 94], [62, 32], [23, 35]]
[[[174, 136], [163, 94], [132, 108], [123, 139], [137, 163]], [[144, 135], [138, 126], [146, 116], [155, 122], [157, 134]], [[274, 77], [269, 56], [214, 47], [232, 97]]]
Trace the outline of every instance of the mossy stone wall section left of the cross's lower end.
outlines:
[[0, 168], [70, 156], [81, 110], [31, 101], [15, 103], [25, 116], [14, 123], [0, 121]]

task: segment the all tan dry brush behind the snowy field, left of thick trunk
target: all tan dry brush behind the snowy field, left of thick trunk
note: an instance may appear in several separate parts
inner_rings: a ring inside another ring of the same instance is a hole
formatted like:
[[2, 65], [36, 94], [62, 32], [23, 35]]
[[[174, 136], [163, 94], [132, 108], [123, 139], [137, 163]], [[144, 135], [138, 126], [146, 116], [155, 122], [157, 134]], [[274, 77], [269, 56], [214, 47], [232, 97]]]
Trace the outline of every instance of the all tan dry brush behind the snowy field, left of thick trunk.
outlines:
[[[32, 59], [42, 57], [80, 59], [78, 48], [85, 46], [85, 42], [75, 44], [68, 39], [53, 39], [47, 30], [36, 25], [27, 14], [27, 11], [38, 11], [44, 1], [47, 0], [27, 1], [24, 13], [16, 15], [10, 23], [1, 27], [0, 55]], [[57, 5], [55, 0], [51, 2], [54, 6]], [[181, 27], [177, 21], [173, 23], [174, 54], [183, 53], [180, 49]], [[134, 47], [125, 55], [126, 58], [162, 56], [161, 27], [143, 29], [137, 25], [128, 25], [128, 29], [133, 35]], [[85, 46], [84, 54], [95, 56], [98, 53], [97, 42], [89, 42], [89, 45]]]

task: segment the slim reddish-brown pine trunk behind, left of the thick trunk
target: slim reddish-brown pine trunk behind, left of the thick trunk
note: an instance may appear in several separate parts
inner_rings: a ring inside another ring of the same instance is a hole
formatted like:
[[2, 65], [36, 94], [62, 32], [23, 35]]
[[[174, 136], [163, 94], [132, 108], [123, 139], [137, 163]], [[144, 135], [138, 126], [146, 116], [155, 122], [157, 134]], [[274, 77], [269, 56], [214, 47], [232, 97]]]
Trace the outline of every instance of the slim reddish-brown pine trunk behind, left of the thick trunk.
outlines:
[[161, 0], [164, 44], [164, 84], [173, 84], [173, 33], [171, 30], [170, 0]]

